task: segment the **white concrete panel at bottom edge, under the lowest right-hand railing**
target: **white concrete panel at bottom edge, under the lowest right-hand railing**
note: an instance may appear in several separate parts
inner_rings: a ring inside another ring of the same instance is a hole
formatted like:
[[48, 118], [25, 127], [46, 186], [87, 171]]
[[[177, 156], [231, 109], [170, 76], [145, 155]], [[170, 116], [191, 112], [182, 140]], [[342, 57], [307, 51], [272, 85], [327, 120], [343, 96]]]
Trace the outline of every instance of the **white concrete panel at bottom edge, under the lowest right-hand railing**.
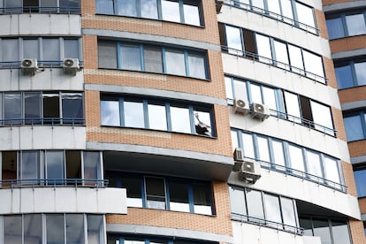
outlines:
[[319, 237], [286, 233], [265, 226], [232, 221], [234, 244], [321, 244]]

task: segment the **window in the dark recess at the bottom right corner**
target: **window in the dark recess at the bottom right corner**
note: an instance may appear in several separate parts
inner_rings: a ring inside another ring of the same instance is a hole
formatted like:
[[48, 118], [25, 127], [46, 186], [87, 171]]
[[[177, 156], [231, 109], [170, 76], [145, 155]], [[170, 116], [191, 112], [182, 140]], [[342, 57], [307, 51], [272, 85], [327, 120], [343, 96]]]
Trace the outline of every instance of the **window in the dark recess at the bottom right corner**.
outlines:
[[350, 244], [350, 233], [347, 221], [320, 217], [301, 217], [300, 225], [304, 234], [319, 236], [322, 243]]

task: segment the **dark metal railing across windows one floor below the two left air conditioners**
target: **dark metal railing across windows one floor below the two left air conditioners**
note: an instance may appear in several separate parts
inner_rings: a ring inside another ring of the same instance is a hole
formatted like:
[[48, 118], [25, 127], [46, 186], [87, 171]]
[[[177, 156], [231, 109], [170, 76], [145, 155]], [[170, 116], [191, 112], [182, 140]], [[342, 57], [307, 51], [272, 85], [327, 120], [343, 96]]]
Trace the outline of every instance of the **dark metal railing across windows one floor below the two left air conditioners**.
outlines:
[[84, 126], [85, 118], [8, 118], [0, 126]]

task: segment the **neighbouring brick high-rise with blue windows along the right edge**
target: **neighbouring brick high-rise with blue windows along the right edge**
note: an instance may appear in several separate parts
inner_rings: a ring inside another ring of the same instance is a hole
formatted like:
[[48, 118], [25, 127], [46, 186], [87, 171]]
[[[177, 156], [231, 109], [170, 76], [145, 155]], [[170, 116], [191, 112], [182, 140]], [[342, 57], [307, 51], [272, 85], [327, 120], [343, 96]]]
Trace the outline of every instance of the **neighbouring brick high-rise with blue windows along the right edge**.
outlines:
[[339, 100], [363, 225], [366, 223], [366, 1], [324, 1]]

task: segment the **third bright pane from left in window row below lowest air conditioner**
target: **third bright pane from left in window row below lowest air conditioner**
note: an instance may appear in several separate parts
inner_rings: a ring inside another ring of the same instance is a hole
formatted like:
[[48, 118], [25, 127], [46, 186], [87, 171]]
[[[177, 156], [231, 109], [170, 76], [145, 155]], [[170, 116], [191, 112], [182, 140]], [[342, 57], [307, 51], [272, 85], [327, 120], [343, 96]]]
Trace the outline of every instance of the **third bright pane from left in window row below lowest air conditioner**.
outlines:
[[276, 195], [264, 194], [264, 208], [266, 214], [266, 220], [272, 221], [274, 223], [269, 222], [267, 225], [281, 228], [282, 227], [282, 218], [281, 218], [281, 210], [279, 209], [279, 199]]

